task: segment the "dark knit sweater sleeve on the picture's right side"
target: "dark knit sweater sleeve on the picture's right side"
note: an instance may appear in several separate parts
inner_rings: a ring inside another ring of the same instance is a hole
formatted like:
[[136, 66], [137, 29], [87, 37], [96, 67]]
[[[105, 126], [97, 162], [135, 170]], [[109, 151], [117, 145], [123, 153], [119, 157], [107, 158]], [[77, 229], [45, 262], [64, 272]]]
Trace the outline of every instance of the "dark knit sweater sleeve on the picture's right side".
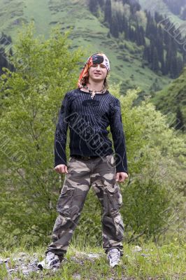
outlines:
[[113, 106], [110, 116], [110, 132], [113, 137], [115, 148], [115, 166], [116, 172], [127, 172], [127, 151], [125, 146], [125, 137], [122, 125], [122, 114], [120, 100], [117, 99]]

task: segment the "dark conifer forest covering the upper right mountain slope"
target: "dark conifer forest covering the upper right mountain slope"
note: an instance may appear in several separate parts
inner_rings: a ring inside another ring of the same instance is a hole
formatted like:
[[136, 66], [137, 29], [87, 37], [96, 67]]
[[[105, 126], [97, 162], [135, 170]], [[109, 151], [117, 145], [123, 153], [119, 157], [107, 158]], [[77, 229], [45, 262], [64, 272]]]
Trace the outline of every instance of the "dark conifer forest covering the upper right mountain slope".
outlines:
[[[178, 77], [186, 62], [186, 53], [183, 45], [174, 40], [166, 30], [171, 25], [162, 15], [141, 11], [138, 1], [90, 1], [90, 10], [106, 26], [110, 34], [118, 38], [120, 48], [125, 48], [124, 40], [143, 46], [143, 64], [148, 65], [152, 71]], [[101, 18], [101, 13], [103, 13]], [[171, 34], [178, 33], [176, 27], [171, 27]], [[180, 34], [179, 34], [180, 37]]]

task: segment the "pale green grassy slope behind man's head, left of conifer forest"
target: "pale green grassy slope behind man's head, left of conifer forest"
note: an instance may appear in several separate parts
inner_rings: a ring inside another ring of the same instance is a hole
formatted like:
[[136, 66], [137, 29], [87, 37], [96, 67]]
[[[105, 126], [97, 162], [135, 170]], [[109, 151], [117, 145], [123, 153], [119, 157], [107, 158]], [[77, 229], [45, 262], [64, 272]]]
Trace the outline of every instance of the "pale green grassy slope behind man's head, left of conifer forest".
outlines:
[[59, 22], [62, 29], [73, 27], [73, 48], [81, 46], [85, 58], [92, 52], [106, 52], [111, 62], [111, 82], [122, 80], [126, 87], [138, 85], [147, 93], [155, 78], [162, 88], [170, 82], [169, 78], [157, 76], [148, 67], [141, 68], [141, 55], [137, 53], [140, 49], [135, 44], [127, 42], [129, 50], [121, 50], [113, 38], [107, 38], [108, 29], [87, 10], [85, 0], [0, 0], [0, 4], [3, 10], [0, 20], [4, 22], [0, 30], [10, 34], [13, 41], [22, 19], [29, 22], [34, 18], [37, 34], [44, 34], [46, 38], [51, 27]]

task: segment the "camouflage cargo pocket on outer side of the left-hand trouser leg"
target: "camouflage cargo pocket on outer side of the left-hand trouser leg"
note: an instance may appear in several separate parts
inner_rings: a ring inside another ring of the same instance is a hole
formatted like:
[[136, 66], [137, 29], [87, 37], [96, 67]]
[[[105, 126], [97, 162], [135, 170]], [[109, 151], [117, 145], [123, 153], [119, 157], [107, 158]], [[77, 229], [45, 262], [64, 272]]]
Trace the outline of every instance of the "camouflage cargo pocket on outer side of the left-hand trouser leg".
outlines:
[[65, 215], [71, 216], [71, 204], [73, 202], [73, 191], [74, 189], [64, 186], [62, 188], [62, 193], [59, 195], [59, 200], [57, 202], [57, 212]]

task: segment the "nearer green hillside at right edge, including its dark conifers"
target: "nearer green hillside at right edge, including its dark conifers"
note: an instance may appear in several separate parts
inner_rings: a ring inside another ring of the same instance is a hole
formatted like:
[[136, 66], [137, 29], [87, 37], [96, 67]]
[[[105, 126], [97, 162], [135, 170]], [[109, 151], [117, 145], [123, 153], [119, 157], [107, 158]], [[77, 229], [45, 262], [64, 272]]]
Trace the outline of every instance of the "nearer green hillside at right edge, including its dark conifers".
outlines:
[[152, 102], [166, 115], [169, 114], [171, 125], [185, 131], [186, 125], [186, 68], [179, 78], [173, 80], [152, 97]]

